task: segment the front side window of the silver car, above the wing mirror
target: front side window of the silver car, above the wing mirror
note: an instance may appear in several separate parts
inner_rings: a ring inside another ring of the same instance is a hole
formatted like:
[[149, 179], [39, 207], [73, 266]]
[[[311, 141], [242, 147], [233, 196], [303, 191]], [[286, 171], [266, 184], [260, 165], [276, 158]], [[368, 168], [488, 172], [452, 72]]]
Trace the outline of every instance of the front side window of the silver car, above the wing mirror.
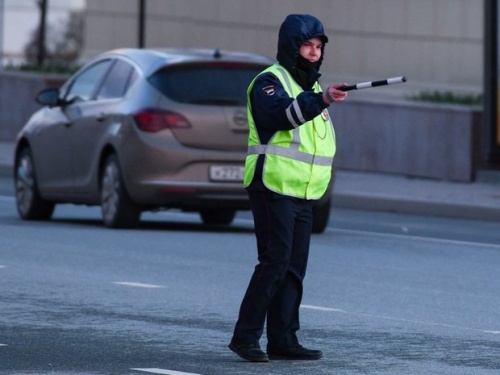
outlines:
[[104, 60], [84, 70], [71, 84], [65, 100], [68, 102], [90, 100], [110, 64], [111, 60]]

